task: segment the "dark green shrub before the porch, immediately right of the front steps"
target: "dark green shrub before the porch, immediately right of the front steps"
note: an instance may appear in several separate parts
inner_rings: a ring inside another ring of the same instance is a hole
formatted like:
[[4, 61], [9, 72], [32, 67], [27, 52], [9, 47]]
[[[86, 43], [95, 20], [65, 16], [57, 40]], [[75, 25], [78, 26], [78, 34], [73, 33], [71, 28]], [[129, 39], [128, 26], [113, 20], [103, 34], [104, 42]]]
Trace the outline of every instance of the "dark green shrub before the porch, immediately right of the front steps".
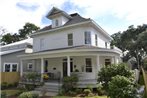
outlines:
[[68, 93], [69, 91], [75, 91], [77, 86], [78, 77], [71, 75], [63, 78], [62, 91]]

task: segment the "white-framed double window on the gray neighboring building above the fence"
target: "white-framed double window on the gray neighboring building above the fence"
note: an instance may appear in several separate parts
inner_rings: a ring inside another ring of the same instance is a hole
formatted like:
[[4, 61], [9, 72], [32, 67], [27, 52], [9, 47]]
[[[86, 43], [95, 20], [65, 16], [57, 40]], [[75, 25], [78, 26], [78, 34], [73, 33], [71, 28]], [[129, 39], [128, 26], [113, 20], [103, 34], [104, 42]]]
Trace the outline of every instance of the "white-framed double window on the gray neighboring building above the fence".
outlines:
[[17, 63], [5, 63], [4, 72], [17, 72], [18, 64]]

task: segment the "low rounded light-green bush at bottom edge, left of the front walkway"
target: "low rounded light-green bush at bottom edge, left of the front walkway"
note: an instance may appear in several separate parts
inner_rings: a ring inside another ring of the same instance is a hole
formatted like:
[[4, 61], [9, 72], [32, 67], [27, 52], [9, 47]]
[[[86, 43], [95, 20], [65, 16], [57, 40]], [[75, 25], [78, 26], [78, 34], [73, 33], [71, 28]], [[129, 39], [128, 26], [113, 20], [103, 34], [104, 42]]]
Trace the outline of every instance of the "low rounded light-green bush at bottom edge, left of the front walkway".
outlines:
[[18, 98], [39, 98], [39, 94], [31, 93], [31, 92], [24, 92], [20, 94]]

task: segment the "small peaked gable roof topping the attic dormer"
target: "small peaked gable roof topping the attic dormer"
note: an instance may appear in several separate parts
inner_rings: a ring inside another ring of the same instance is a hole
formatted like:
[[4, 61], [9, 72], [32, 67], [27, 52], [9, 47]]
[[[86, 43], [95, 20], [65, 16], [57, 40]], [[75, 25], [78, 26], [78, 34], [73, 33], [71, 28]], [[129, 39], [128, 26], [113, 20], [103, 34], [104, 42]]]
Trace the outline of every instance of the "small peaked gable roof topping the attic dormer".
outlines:
[[53, 17], [54, 15], [57, 15], [57, 14], [62, 14], [63, 16], [65, 16], [69, 19], [71, 18], [66, 12], [64, 12], [64, 11], [62, 11], [62, 10], [56, 8], [56, 7], [53, 7], [51, 9], [51, 11], [47, 14], [46, 17], [50, 19], [51, 17]]

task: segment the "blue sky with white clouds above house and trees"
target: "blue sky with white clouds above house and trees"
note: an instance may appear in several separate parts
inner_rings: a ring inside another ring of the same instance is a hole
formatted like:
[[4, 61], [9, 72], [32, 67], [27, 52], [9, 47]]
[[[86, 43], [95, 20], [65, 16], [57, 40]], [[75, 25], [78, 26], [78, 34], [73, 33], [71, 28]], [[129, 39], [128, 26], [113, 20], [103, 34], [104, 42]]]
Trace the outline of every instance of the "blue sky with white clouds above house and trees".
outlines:
[[52, 7], [93, 19], [108, 34], [147, 23], [146, 0], [0, 0], [0, 28], [18, 33], [26, 22], [43, 28]]

